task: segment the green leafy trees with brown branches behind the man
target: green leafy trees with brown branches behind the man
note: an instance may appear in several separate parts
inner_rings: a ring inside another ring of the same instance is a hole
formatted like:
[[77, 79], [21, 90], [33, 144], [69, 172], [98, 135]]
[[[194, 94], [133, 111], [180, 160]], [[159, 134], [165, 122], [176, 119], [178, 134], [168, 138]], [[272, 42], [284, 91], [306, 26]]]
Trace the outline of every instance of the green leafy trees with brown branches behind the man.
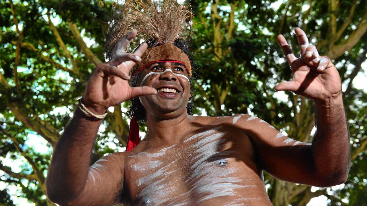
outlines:
[[[284, 34], [296, 52], [293, 30], [301, 27], [339, 70], [351, 136], [348, 180], [338, 187], [316, 188], [265, 173], [273, 205], [302, 206], [321, 195], [323, 205], [367, 205], [367, 88], [363, 82], [353, 83], [366, 80], [367, 1], [190, 3], [195, 14], [192, 52], [199, 68], [193, 98], [198, 115], [250, 113], [293, 139], [311, 141], [313, 102], [273, 89], [291, 78], [277, 34]], [[111, 10], [111, 1], [0, 1], [0, 206], [54, 205], [44, 188], [52, 148], [95, 65], [104, 61]], [[124, 151], [127, 107], [125, 102], [109, 109], [91, 163]]]

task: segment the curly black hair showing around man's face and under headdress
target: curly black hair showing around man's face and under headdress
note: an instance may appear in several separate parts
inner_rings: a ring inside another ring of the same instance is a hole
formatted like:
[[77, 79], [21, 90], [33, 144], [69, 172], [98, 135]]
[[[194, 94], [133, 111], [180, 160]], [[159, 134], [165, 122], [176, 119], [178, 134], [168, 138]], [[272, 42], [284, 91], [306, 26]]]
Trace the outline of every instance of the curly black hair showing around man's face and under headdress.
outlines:
[[[148, 41], [146, 41], [146, 43], [148, 44], [148, 48], [157, 47], [157, 46], [161, 45], [161, 44], [156, 44], [155, 40], [148, 40]], [[176, 47], [181, 49], [186, 55], [188, 55], [188, 57], [190, 59], [191, 68], [193, 68], [194, 67], [194, 63], [193, 63], [193, 59], [192, 59], [193, 54], [192, 54], [192, 52], [190, 52], [189, 38], [186, 38], [185, 40], [177, 39], [177, 40], [175, 40], [173, 45], [175, 45]], [[142, 71], [131, 78], [131, 80], [130, 80], [130, 86], [131, 87], [136, 87], [137, 86], [137, 82], [138, 82], [138, 79], [139, 79], [141, 73], [142, 73]], [[193, 108], [195, 107], [194, 104], [192, 103], [193, 93], [195, 92], [195, 90], [192, 87], [192, 80], [193, 80], [193, 77], [189, 77], [190, 98], [189, 98], [188, 104], [186, 106], [187, 113], [189, 115], [193, 114]], [[136, 118], [135, 120], [138, 121], [138, 122], [141, 122], [141, 123], [146, 122], [145, 108], [143, 107], [143, 105], [140, 102], [138, 97], [130, 100], [130, 108], [127, 111], [127, 115], [129, 117], [135, 116], [135, 118]]]

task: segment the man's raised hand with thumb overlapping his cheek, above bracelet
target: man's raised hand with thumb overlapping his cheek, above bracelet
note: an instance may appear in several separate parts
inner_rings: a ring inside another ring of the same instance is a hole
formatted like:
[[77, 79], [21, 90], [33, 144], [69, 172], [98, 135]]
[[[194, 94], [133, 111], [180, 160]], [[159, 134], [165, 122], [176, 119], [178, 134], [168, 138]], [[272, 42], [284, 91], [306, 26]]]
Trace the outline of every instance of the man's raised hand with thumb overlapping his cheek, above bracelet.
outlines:
[[137, 62], [148, 45], [143, 43], [133, 54], [126, 53], [130, 40], [137, 35], [133, 30], [127, 33], [116, 45], [110, 61], [96, 67], [88, 81], [83, 95], [84, 105], [94, 114], [103, 114], [110, 106], [115, 106], [132, 98], [156, 94], [152, 87], [130, 87], [130, 70]]

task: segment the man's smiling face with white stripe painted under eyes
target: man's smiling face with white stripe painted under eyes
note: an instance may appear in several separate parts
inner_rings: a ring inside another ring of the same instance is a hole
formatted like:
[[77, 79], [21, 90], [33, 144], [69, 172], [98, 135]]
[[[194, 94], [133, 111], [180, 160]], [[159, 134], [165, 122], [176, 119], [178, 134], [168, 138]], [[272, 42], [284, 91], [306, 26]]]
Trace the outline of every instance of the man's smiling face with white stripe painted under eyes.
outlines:
[[155, 95], [139, 97], [146, 113], [159, 115], [185, 112], [190, 97], [188, 79], [185, 66], [181, 63], [157, 62], [146, 67], [137, 86], [149, 86], [158, 91]]

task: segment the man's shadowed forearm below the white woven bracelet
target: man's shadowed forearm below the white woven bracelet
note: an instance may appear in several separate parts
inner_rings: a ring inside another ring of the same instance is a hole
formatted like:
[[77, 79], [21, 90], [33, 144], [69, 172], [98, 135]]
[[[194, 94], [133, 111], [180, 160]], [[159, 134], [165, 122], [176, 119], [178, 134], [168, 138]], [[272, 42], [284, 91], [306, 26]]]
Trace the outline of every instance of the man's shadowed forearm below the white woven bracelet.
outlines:
[[50, 199], [75, 198], [84, 188], [91, 150], [102, 120], [92, 120], [77, 108], [52, 155], [46, 187]]

